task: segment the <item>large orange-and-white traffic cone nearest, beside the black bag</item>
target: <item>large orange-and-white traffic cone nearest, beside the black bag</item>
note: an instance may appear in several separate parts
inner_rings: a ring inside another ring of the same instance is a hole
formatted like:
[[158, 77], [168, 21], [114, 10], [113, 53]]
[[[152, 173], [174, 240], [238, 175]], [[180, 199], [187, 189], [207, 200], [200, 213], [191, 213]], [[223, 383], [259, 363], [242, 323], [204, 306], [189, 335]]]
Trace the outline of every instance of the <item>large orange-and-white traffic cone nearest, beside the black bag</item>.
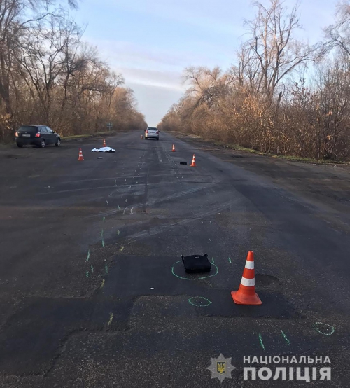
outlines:
[[255, 270], [254, 270], [254, 252], [248, 251], [246, 256], [246, 265], [244, 267], [241, 284], [238, 291], [231, 293], [234, 302], [237, 305], [262, 305], [262, 301], [255, 293]]

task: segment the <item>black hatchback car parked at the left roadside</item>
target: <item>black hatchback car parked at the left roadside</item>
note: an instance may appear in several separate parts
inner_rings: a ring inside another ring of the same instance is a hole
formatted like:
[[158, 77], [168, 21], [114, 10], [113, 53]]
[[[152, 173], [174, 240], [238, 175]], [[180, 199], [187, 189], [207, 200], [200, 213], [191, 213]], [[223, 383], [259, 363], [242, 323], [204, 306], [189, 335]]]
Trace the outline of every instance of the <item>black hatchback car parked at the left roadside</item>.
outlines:
[[45, 148], [49, 144], [61, 145], [59, 134], [45, 125], [22, 125], [15, 134], [17, 146], [22, 148], [25, 144]]

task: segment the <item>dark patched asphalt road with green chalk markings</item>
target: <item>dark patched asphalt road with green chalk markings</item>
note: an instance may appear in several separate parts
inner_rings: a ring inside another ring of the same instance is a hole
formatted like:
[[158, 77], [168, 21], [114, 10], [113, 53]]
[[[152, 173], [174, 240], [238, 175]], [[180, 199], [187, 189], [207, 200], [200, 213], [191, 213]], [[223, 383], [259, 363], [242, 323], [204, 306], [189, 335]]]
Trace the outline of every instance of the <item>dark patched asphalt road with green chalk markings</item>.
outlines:
[[[0, 387], [349, 387], [350, 168], [140, 136], [0, 148]], [[248, 250], [261, 306], [230, 295]], [[244, 380], [276, 355], [332, 380]]]

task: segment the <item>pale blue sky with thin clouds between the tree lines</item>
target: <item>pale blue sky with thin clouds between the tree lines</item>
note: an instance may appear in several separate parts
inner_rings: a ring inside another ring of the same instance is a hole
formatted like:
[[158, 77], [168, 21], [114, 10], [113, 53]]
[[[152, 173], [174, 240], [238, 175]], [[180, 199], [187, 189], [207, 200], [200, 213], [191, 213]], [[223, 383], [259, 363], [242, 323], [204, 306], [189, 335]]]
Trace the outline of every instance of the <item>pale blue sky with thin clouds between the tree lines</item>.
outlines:
[[[322, 27], [334, 20], [335, 4], [301, 0], [300, 36], [309, 43], [321, 39]], [[244, 19], [253, 18], [254, 8], [249, 0], [82, 0], [73, 15], [86, 26], [85, 41], [123, 74], [151, 126], [183, 95], [185, 67], [228, 69], [235, 62]]]

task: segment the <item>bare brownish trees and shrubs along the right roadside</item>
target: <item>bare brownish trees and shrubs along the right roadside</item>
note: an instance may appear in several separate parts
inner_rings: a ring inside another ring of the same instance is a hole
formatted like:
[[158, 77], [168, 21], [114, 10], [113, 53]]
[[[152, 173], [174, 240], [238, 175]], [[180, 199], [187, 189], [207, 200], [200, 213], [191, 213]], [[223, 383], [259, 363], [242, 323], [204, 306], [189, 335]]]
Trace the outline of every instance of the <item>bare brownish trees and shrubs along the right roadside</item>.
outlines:
[[265, 153], [344, 160], [350, 155], [350, 3], [313, 46], [297, 39], [297, 4], [253, 3], [235, 64], [190, 67], [187, 89], [159, 125]]

